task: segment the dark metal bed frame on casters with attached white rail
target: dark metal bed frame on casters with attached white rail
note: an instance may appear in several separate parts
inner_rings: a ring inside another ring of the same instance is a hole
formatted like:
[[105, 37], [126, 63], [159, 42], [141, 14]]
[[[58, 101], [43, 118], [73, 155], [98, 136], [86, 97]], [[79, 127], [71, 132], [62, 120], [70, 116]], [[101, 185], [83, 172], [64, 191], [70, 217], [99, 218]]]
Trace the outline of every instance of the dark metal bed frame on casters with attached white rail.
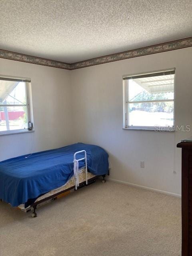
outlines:
[[[76, 155], [79, 154], [79, 153], [84, 153], [84, 157], [83, 158], [76, 158]], [[79, 162], [84, 160], [85, 161], [85, 166], [83, 168], [85, 168], [85, 171], [86, 171], [86, 180], [84, 182], [81, 182], [79, 184], [78, 182], [78, 166], [79, 166]], [[52, 196], [48, 196], [42, 200], [39, 200], [37, 202], [34, 202], [33, 204], [31, 204], [30, 208], [28, 210], [26, 210], [26, 212], [30, 212], [33, 208], [33, 213], [32, 213], [32, 217], [33, 218], [36, 218], [37, 217], [37, 213], [36, 213], [36, 209], [39, 205], [42, 205], [44, 203], [49, 202], [51, 200], [56, 200], [61, 194], [64, 194], [66, 192], [69, 192], [70, 190], [78, 190], [79, 188], [83, 188], [84, 186], [88, 186], [92, 183], [94, 183], [96, 181], [96, 178], [98, 178], [98, 176], [94, 176], [93, 178], [90, 178], [89, 180], [87, 179], [87, 153], [86, 153], [86, 150], [81, 150], [81, 151], [77, 151], [75, 152], [74, 154], [74, 178], [75, 178], [75, 185], [70, 187], [70, 188], [67, 188], [65, 190], [62, 190], [56, 194], [53, 194]], [[109, 175], [109, 172], [108, 172], [108, 175]], [[105, 177], [106, 175], [102, 175], [103, 179], [101, 180], [101, 182], [106, 182], [105, 180]]]

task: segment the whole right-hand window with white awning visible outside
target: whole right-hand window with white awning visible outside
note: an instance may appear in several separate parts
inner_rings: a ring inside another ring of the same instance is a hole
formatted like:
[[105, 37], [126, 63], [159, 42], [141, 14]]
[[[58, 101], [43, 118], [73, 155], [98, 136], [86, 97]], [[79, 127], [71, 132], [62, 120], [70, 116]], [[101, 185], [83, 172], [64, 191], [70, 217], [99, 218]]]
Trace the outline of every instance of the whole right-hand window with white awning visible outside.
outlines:
[[174, 130], [175, 70], [123, 77], [124, 128]]

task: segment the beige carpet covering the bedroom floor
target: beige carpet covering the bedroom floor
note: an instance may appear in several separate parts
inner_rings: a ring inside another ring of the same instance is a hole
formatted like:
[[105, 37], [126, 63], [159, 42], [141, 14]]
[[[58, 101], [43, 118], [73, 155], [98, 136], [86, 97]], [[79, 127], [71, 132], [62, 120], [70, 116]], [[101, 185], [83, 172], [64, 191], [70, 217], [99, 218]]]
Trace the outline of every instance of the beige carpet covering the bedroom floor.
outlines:
[[97, 181], [38, 208], [0, 202], [0, 256], [180, 256], [181, 200]]

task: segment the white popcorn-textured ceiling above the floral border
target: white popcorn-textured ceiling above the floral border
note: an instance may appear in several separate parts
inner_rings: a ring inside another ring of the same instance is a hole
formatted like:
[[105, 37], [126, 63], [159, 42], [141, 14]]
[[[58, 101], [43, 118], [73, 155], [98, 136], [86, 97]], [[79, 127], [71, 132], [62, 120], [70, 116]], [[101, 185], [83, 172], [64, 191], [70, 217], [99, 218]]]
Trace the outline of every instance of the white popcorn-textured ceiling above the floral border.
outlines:
[[191, 0], [0, 0], [0, 49], [62, 62], [190, 36]]

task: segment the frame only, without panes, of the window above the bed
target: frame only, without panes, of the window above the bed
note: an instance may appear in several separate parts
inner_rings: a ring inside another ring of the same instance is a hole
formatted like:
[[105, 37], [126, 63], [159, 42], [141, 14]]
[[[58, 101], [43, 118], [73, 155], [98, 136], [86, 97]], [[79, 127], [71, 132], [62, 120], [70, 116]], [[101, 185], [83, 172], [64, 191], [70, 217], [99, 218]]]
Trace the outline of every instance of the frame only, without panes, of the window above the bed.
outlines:
[[27, 132], [34, 132], [34, 126], [33, 126], [33, 114], [32, 114], [32, 97], [31, 97], [31, 88], [30, 78], [21, 78], [16, 76], [3, 76], [0, 75], [1, 80], [8, 80], [8, 81], [18, 81], [18, 82], [24, 82], [25, 83], [25, 94], [26, 94], [26, 104], [0, 104], [0, 107], [9, 107], [9, 106], [25, 106], [26, 107], [26, 113], [27, 113], [27, 125], [28, 128], [24, 129], [15, 129], [15, 130], [4, 130], [0, 131], [0, 136], [3, 135], [11, 135], [11, 134], [21, 134], [21, 133], [27, 133]]

